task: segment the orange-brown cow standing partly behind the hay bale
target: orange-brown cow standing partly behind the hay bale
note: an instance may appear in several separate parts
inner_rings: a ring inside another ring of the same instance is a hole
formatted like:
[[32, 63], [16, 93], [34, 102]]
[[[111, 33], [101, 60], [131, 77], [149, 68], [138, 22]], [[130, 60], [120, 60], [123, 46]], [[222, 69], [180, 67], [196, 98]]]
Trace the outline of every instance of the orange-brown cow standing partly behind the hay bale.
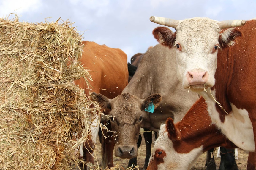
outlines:
[[[89, 86], [83, 77], [75, 80], [74, 83], [84, 89], [88, 97], [91, 92], [102, 93], [108, 98], [120, 95], [128, 84], [127, 55], [121, 49], [110, 48], [91, 41], [82, 41], [82, 44], [83, 52], [79, 62], [84, 69], [89, 69], [92, 80], [88, 80]], [[80, 146], [83, 148], [83, 150], [80, 149], [80, 152], [83, 152], [80, 154], [85, 162], [94, 163], [92, 153], [99, 123], [97, 125], [97, 128], [93, 129], [92, 135], [89, 136], [89, 139], [93, 140], [85, 141], [83, 146]], [[110, 124], [105, 123], [105, 125], [111, 130]], [[104, 137], [102, 139], [102, 166], [113, 167], [113, 137], [108, 137], [107, 141], [104, 141]], [[84, 166], [84, 169], [86, 169], [86, 166]]]

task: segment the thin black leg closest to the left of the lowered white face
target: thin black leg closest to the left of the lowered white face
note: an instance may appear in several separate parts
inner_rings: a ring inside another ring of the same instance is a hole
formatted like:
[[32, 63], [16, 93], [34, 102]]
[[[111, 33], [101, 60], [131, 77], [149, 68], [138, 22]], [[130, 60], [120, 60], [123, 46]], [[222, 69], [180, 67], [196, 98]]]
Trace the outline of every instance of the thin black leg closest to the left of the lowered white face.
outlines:
[[151, 156], [152, 131], [149, 131], [149, 129], [144, 128], [143, 136], [146, 144], [146, 158], [143, 169], [146, 170], [148, 167], [149, 158]]

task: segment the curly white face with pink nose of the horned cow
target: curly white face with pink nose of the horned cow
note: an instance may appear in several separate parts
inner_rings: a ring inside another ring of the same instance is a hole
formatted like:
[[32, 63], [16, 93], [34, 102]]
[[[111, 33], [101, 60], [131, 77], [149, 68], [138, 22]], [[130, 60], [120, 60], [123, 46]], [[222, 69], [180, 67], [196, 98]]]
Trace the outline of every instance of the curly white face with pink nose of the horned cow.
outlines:
[[214, 85], [219, 31], [212, 20], [184, 20], [178, 25], [174, 47], [177, 74], [184, 88], [201, 91]]

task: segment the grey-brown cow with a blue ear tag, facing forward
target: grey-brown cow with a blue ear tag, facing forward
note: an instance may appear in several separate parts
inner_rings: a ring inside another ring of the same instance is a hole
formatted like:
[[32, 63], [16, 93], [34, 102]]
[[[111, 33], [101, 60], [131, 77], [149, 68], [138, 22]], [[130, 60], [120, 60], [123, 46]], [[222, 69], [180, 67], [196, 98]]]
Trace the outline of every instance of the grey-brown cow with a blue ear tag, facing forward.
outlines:
[[[102, 94], [92, 93], [92, 100], [109, 110], [112, 129], [117, 132], [115, 156], [136, 157], [141, 127], [157, 132], [168, 117], [173, 117], [174, 122], [180, 121], [199, 98], [197, 93], [187, 94], [182, 88], [175, 63], [175, 50], [158, 44], [143, 55], [121, 95], [110, 100]], [[152, 108], [145, 111], [148, 106]]]

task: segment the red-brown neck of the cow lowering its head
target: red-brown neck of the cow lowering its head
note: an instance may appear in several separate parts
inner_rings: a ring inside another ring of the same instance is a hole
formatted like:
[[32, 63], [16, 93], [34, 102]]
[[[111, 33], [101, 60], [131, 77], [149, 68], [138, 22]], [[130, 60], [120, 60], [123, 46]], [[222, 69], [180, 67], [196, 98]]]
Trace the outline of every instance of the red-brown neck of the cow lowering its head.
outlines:
[[[173, 147], [177, 152], [189, 153], [193, 148], [203, 146], [203, 152], [209, 148], [214, 148], [220, 144], [225, 144], [226, 140], [222, 133], [211, 122], [207, 113], [207, 105], [203, 98], [200, 98], [195, 109], [190, 110], [184, 118], [176, 124], [180, 132], [181, 140], [173, 141]], [[192, 106], [193, 108], [194, 106]], [[186, 147], [185, 147], [186, 146]]]

